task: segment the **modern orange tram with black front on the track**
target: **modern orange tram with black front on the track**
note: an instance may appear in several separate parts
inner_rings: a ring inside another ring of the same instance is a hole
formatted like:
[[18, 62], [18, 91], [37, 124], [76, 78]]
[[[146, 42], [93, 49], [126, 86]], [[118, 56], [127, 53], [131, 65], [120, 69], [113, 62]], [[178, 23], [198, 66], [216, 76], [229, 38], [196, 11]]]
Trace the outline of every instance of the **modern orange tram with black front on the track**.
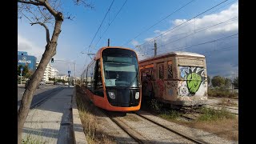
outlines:
[[138, 56], [134, 50], [102, 47], [81, 75], [95, 106], [111, 111], [139, 110], [142, 100]]

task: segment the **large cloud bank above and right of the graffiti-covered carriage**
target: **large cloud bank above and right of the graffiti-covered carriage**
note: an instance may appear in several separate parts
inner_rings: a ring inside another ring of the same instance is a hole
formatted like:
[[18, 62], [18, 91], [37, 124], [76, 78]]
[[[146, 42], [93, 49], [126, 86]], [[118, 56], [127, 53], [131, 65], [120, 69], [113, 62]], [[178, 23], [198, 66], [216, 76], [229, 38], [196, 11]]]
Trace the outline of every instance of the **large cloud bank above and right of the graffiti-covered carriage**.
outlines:
[[[208, 74], [218, 74], [228, 77], [233, 73], [232, 71], [238, 69], [238, 38], [234, 38], [238, 37], [238, 35], [235, 35], [233, 38], [210, 42], [232, 34], [238, 34], [238, 2], [221, 12], [208, 14], [202, 16], [202, 18], [195, 18], [189, 22], [186, 21], [188, 20], [182, 18], [173, 20], [171, 22], [172, 26], [168, 29], [169, 31], [154, 30], [155, 36], [162, 34], [156, 40], [158, 54], [165, 54], [166, 52], [177, 50], [190, 51], [198, 54], [213, 51], [210, 52], [210, 58], [206, 57]], [[183, 22], [186, 23], [182, 24]], [[145, 38], [145, 41], [149, 41], [154, 37]], [[209, 43], [198, 45], [204, 42]], [[229, 46], [234, 46], [232, 51], [224, 50]], [[146, 45], [141, 47], [141, 53], [146, 53], [148, 56], [154, 54], [154, 42], [147, 42]], [[146, 51], [144, 52], [145, 47]], [[210, 60], [209, 64], [207, 63], [208, 60]]]

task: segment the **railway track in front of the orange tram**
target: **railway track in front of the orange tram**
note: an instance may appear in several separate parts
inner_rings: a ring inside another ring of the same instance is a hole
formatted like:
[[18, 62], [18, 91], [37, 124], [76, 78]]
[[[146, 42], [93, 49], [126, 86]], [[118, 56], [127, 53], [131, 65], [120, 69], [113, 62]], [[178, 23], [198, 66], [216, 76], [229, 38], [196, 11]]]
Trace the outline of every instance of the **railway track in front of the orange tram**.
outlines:
[[[119, 117], [117, 115], [110, 114], [110, 112], [108, 112], [106, 110], [102, 110], [102, 112], [104, 114], [106, 114], [106, 116], [109, 117], [114, 123], [116, 123], [122, 130], [124, 130], [126, 132], [126, 134], [130, 135], [130, 137], [133, 138], [135, 142], [138, 142], [138, 143], [149, 143], [149, 142], [154, 143], [154, 142], [157, 142], [157, 141], [152, 140], [152, 138], [149, 138], [148, 135], [142, 134], [142, 131], [140, 131], [139, 129], [136, 130], [136, 128], [134, 128], [134, 126], [132, 126], [130, 124], [130, 122], [126, 122], [126, 120], [124, 120], [126, 118], [126, 116], [120, 116]], [[207, 142], [202, 141], [201, 139], [194, 138], [194, 137], [192, 137], [188, 134], [185, 134], [181, 131], [174, 130], [174, 129], [171, 129], [170, 127], [164, 126], [161, 123], [158, 123], [158, 122], [156, 122], [156, 121], [154, 121], [150, 118], [147, 118], [143, 114], [139, 114], [137, 112], [136, 113], [128, 113], [128, 114], [129, 114], [130, 117], [132, 117], [134, 119], [139, 118], [140, 120], [142, 120], [142, 121], [138, 121], [140, 123], [142, 123], [142, 122], [150, 123], [150, 126], [152, 126], [152, 129], [155, 129], [153, 126], [157, 126], [158, 130], [165, 129], [165, 130], [168, 131], [168, 133], [178, 135], [178, 137], [183, 139], [183, 141], [185, 141], [185, 143], [186, 142], [188, 142], [188, 143], [199, 143], [199, 144], [207, 143]], [[139, 123], [135, 124], [135, 126], [136, 125], [138, 127], [140, 126]], [[149, 126], [149, 124], [147, 124], [147, 125]], [[148, 131], [146, 133], [150, 133], [150, 131]], [[186, 140], [184, 140], [184, 139], [186, 139]], [[159, 141], [161, 141], [161, 140], [159, 140]]]

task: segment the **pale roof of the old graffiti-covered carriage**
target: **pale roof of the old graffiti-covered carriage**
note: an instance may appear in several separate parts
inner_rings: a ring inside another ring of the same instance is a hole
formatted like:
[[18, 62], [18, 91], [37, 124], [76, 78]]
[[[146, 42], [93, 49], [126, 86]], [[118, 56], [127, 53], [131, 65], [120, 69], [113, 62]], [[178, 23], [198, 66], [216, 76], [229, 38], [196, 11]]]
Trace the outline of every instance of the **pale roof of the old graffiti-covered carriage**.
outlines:
[[145, 61], [148, 61], [148, 60], [154, 60], [154, 59], [158, 59], [158, 58], [166, 58], [166, 57], [174, 56], [174, 55], [205, 58], [205, 56], [202, 55], [202, 54], [186, 52], [186, 51], [173, 51], [173, 52], [170, 52], [170, 53], [167, 53], [167, 54], [157, 55], [156, 57], [145, 58], [145, 59], [140, 60], [140, 62], [145, 62]]

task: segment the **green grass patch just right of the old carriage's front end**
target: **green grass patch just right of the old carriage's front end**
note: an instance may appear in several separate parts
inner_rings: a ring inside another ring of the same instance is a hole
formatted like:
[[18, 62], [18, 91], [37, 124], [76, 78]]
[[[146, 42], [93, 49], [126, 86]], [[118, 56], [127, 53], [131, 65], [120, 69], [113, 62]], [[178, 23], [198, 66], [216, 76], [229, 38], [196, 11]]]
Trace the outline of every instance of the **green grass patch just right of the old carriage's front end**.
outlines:
[[201, 114], [198, 118], [198, 122], [202, 121], [218, 121], [222, 120], [224, 118], [235, 118], [234, 114], [230, 114], [227, 110], [225, 109], [220, 109], [220, 110], [214, 110], [214, 109], [207, 109], [202, 107], [199, 111], [201, 111], [203, 114]]

